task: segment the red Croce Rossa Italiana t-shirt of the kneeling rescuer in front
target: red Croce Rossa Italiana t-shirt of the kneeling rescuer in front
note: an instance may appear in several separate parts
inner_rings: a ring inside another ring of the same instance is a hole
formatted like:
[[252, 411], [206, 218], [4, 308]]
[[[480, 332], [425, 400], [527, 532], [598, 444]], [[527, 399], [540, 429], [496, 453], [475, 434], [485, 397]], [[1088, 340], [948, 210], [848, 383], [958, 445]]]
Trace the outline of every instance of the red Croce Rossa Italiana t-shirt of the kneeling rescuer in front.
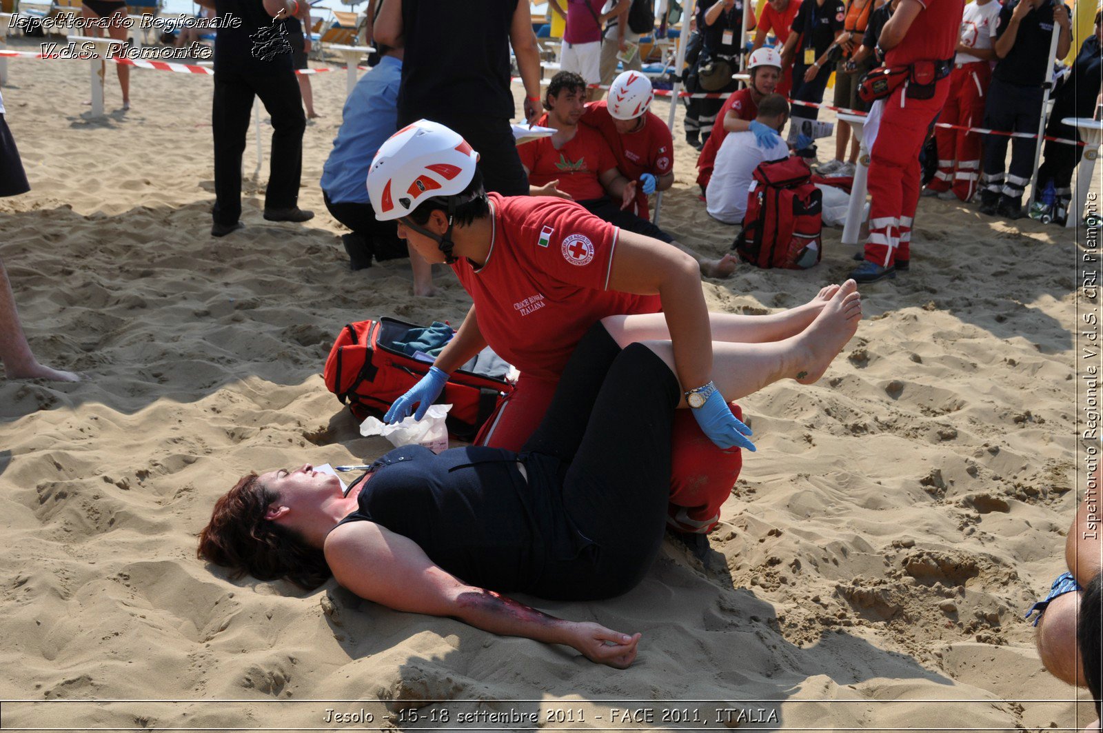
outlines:
[[657, 295], [608, 289], [618, 227], [564, 199], [488, 195], [494, 230], [486, 262], [476, 269], [461, 258], [452, 270], [486, 343], [522, 373], [557, 380], [600, 319], [662, 310]]

